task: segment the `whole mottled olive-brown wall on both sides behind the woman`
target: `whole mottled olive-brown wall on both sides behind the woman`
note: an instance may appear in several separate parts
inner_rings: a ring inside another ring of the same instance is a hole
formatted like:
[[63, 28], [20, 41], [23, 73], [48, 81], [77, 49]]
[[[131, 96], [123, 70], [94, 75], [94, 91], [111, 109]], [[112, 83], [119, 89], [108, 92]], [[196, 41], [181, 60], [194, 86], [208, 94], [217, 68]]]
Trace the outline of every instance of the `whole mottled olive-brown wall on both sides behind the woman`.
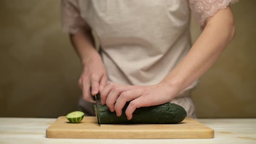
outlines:
[[[232, 6], [236, 38], [193, 92], [199, 118], [256, 118], [255, 6]], [[1, 0], [0, 17], [0, 117], [75, 111], [81, 65], [61, 31], [60, 1]], [[199, 34], [192, 20], [193, 42]]]

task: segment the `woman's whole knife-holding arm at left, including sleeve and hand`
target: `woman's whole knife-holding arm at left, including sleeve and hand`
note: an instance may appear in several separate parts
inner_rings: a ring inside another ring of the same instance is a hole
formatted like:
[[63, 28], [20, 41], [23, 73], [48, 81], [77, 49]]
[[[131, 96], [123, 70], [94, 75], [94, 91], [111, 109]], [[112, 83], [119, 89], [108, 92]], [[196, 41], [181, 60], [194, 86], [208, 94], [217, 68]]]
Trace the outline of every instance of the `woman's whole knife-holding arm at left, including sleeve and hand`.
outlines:
[[83, 71], [79, 79], [79, 86], [83, 98], [90, 102], [92, 95], [102, 92], [107, 85], [108, 77], [101, 56], [94, 49], [90, 26], [80, 14], [78, 0], [61, 0], [62, 29], [70, 33], [71, 42], [79, 55]]

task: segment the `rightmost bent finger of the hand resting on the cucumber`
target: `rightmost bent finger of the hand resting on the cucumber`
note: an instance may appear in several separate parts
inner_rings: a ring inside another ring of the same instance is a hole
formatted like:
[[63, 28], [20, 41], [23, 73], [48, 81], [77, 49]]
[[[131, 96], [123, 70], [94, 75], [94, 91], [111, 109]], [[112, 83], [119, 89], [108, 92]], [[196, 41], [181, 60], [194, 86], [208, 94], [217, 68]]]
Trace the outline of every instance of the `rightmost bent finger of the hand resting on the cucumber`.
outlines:
[[132, 118], [132, 113], [135, 111], [136, 108], [149, 106], [147, 104], [147, 101], [148, 98], [145, 98], [144, 96], [138, 97], [135, 100], [131, 101], [125, 110], [125, 115], [127, 116], [127, 119], [130, 120]]

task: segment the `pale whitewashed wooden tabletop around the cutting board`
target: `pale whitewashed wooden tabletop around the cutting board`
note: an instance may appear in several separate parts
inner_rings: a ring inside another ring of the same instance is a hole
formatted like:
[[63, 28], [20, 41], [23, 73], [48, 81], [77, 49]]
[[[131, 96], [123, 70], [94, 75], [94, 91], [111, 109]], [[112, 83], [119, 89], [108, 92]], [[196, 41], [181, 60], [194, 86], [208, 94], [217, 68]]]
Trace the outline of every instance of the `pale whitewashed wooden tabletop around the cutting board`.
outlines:
[[0, 118], [0, 144], [256, 144], [256, 118], [197, 119], [213, 128], [210, 139], [64, 139], [46, 138], [55, 118]]

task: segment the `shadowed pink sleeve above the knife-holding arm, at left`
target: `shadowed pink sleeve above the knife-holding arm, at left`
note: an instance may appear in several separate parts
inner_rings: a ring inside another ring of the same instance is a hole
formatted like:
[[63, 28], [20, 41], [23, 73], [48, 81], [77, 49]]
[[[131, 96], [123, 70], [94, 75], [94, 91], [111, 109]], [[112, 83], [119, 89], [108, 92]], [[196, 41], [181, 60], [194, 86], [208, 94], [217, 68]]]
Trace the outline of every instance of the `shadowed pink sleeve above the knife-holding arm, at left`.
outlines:
[[78, 0], [61, 1], [62, 29], [72, 34], [88, 27], [80, 16], [78, 4]]

